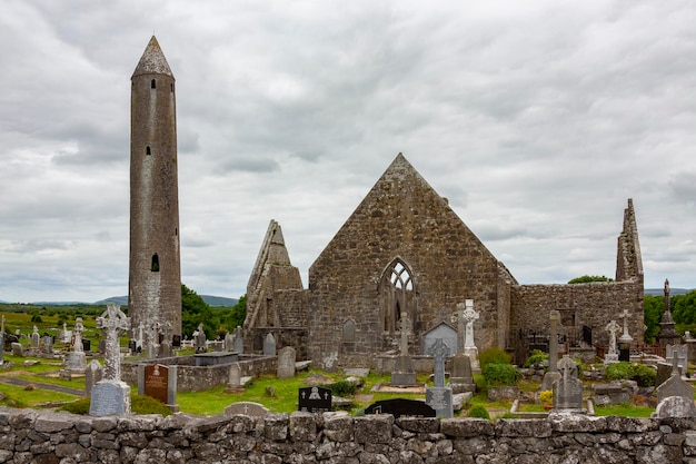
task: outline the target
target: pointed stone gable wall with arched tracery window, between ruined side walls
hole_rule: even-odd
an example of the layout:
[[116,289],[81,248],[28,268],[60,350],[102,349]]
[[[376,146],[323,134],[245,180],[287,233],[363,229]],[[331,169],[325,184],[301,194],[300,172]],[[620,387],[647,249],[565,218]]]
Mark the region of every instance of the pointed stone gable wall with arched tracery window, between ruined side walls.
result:
[[508,317],[500,278],[498,260],[399,154],[309,269],[310,355],[346,355],[336,342],[348,320],[357,353],[391,349],[400,312],[418,352],[443,310],[467,298],[481,313],[481,346],[494,346],[498,317]]

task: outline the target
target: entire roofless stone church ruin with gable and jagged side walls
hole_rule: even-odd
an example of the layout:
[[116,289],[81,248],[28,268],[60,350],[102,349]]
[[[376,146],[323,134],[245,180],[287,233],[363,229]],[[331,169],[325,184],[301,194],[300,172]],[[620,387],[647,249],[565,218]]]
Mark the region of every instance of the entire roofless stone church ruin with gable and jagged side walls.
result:
[[601,328],[624,312],[633,339],[643,340],[643,279],[632,199],[615,282],[519,285],[399,154],[310,266],[307,289],[271,220],[247,287],[247,349],[258,352],[272,333],[279,347],[291,345],[319,367],[372,367],[380,354],[398,352],[401,314],[412,322],[409,352],[424,355],[424,337],[449,328],[467,299],[480,315],[479,349],[524,357],[538,335],[548,343],[550,310],[559,312],[568,346],[591,348],[593,334],[606,337]]

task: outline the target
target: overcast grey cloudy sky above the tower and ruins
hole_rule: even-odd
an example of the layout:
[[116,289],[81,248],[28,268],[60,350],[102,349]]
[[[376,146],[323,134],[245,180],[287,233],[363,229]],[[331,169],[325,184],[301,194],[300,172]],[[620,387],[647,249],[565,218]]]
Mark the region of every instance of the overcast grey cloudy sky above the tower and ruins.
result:
[[0,14],[0,300],[128,293],[130,77],[177,78],[181,278],[307,269],[398,152],[523,284],[696,287],[696,2],[42,1]]

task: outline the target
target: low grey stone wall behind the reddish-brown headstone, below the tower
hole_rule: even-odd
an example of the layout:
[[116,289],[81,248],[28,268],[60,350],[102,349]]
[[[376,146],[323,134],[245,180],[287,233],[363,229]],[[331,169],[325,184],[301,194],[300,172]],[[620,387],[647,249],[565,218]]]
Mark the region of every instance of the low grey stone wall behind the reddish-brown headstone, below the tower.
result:
[[[277,356],[240,355],[238,363],[242,376],[276,374],[278,368]],[[229,364],[196,366],[193,356],[163,357],[137,363],[121,363],[121,379],[131,386],[137,386],[139,364],[176,365],[177,392],[202,392],[229,383]]]

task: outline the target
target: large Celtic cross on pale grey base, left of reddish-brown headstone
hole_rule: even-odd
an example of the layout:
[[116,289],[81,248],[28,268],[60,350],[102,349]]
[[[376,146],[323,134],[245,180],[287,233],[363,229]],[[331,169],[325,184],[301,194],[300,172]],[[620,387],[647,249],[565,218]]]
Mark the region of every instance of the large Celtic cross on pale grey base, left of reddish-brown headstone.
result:
[[119,336],[130,327],[130,319],[119,305],[107,305],[107,310],[97,317],[107,339],[103,359],[103,378],[92,387],[89,404],[91,416],[130,414],[130,386],[121,381]]

